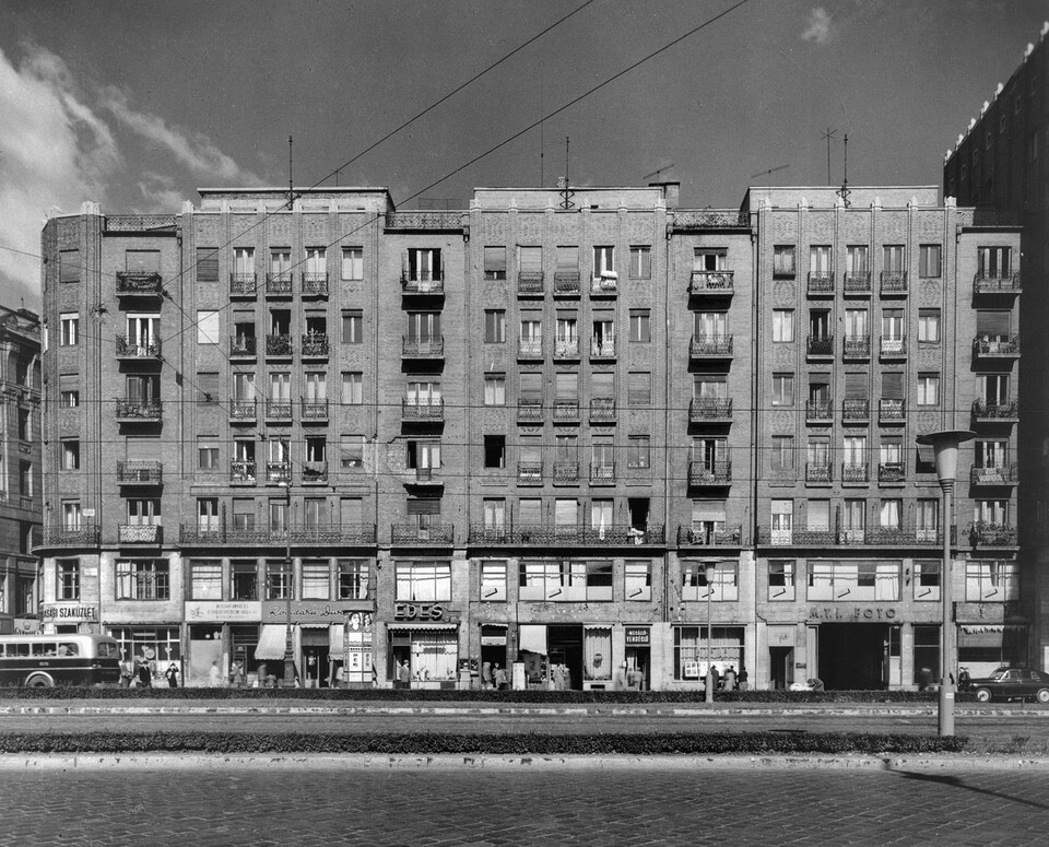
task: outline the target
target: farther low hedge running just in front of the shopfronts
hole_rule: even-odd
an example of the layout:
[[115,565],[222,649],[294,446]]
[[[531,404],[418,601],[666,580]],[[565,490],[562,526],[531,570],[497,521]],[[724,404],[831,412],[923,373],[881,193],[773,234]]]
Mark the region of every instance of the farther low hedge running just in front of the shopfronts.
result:
[[[703,703],[702,691],[458,691],[393,689],[55,689],[0,687],[0,699],[293,699],[328,703],[421,702],[486,704],[660,704]],[[969,692],[959,702],[975,702]],[[935,703],[935,692],[917,691],[730,691],[719,692],[716,702],[726,703]]]

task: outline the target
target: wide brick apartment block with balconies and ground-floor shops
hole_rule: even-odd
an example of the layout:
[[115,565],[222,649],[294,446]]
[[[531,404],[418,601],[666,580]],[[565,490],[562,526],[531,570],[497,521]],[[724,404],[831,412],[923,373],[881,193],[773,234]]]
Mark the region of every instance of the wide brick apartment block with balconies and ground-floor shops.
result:
[[[190,682],[238,659],[279,677],[291,637],[321,684],[514,664],[576,689],[624,663],[697,687],[709,660],[905,687],[939,638],[914,436],[1011,366],[958,274],[1015,233],[932,189],[752,189],[731,211],[677,209],[675,184],[478,189],[461,211],[203,189],[44,242],[48,326],[91,322],[45,357],[56,625]],[[62,404],[80,390],[97,402]],[[998,579],[992,417],[963,532]]]

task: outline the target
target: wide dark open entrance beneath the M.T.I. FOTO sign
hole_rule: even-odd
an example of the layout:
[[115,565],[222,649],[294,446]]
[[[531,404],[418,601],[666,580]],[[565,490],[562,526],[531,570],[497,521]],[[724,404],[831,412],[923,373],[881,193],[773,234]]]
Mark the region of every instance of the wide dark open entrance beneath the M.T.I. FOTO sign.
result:
[[887,624],[825,623],[820,625],[820,679],[837,691],[888,687]]

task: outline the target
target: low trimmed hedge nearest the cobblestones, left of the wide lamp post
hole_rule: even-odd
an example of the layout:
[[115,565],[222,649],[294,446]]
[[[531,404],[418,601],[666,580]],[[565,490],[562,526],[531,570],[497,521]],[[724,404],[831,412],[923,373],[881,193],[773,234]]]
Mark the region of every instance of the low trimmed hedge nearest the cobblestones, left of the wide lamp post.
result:
[[862,732],[677,732],[588,736],[72,732],[0,733],[0,753],[370,753],[381,755],[727,755],[960,753],[968,739]]

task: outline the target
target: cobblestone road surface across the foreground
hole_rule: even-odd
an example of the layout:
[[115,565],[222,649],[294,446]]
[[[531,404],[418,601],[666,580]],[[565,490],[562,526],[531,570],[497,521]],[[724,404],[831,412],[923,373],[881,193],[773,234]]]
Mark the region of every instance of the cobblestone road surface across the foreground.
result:
[[1027,845],[1049,774],[1024,770],[0,773],[0,844]]

